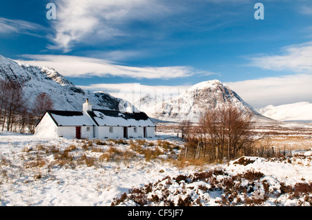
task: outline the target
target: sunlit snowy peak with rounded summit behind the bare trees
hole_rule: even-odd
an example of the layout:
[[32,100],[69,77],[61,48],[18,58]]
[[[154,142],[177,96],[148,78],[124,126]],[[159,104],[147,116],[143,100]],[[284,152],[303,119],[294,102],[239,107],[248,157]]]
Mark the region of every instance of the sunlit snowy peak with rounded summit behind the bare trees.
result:
[[[150,97],[148,98],[150,99]],[[142,102],[144,103],[144,100]],[[251,113],[257,120],[268,120],[218,80],[200,82],[191,86],[187,91],[174,98],[158,102],[154,107],[148,108],[146,113],[157,120],[198,122],[201,114],[205,113],[207,109],[214,109],[226,104],[238,107],[243,113]]]

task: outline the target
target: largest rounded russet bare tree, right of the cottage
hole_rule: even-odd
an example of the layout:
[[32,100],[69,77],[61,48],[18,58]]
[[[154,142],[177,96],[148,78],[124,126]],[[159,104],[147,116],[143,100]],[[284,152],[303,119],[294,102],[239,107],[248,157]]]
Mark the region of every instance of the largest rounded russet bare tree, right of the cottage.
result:
[[220,161],[227,154],[229,161],[239,153],[244,154],[245,147],[252,143],[250,119],[249,114],[231,105],[207,109],[196,127],[204,156],[208,151],[211,161]]

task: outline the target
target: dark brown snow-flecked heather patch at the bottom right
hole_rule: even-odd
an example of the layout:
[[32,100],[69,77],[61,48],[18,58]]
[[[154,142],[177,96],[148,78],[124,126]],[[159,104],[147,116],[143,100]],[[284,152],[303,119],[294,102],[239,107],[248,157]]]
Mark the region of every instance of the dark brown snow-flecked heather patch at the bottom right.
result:
[[[114,198],[111,205],[125,205],[128,201],[133,201],[137,205],[202,205],[211,199],[209,194],[214,192],[222,194],[221,199],[215,201],[216,205],[263,205],[268,200],[275,201],[276,205],[279,205],[279,196],[285,195],[288,199],[304,198],[305,202],[312,205],[310,196],[312,183],[296,183],[291,186],[281,182],[277,189],[271,188],[265,179],[261,179],[263,176],[263,173],[254,170],[230,175],[222,169],[196,172],[189,176],[178,175],[173,178],[166,176],[156,183],[130,189],[128,194],[124,193]],[[196,182],[207,184],[189,186]],[[176,196],[179,196],[179,199],[176,199]]]

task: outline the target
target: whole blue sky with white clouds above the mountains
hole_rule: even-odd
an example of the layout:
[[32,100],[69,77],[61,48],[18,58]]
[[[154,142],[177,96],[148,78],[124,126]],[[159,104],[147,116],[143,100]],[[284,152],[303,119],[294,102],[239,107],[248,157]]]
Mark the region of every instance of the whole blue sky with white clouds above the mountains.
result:
[[217,79],[258,108],[312,102],[311,21],[308,0],[1,1],[0,54],[116,96]]

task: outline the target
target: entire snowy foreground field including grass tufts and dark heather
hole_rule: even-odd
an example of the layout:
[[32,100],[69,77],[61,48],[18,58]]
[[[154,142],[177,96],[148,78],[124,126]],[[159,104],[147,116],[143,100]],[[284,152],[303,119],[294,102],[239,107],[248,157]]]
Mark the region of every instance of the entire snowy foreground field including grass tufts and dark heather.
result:
[[312,205],[311,149],[198,167],[173,163],[182,146],[166,134],[91,141],[1,132],[0,204]]

